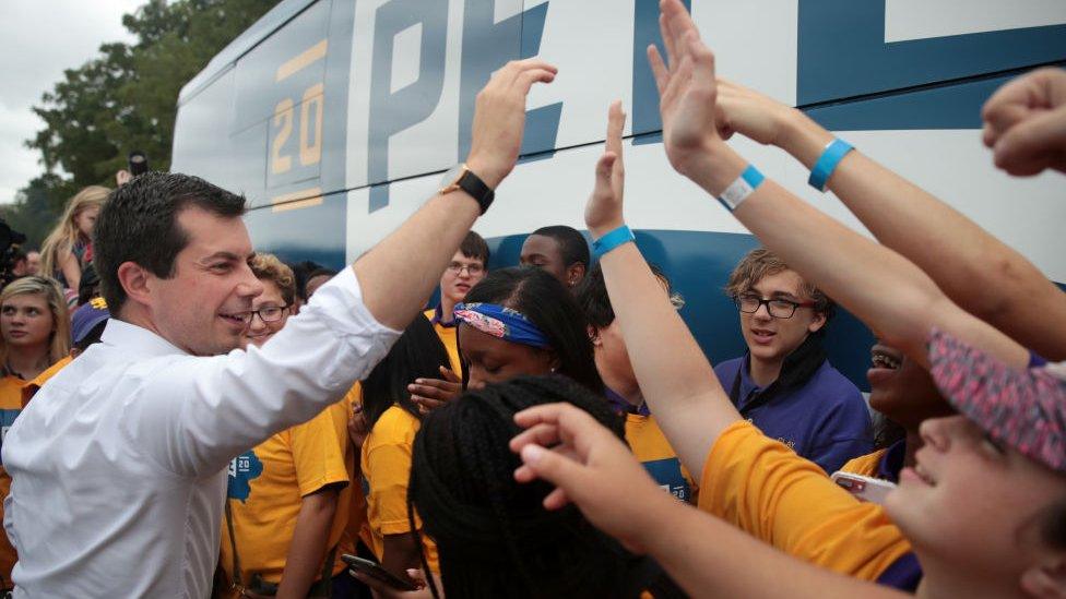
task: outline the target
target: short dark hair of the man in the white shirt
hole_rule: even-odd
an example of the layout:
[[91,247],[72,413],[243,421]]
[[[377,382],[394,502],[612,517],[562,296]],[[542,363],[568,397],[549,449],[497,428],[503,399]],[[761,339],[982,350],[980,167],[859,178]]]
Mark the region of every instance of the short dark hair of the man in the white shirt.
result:
[[93,265],[111,313],[126,303],[118,267],[133,262],[157,277],[174,276],[174,262],[189,243],[178,214],[196,206],[223,217],[245,214],[245,199],[198,177],[149,172],[108,196],[93,231]]

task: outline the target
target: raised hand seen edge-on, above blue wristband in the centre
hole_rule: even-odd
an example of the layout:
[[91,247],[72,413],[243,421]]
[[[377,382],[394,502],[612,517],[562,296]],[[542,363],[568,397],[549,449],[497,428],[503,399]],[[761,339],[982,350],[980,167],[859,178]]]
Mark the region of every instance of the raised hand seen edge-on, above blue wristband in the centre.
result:
[[621,101],[615,100],[607,110],[607,141],[603,156],[596,163],[596,184],[584,208],[584,223],[593,237],[620,227],[623,194],[626,188],[626,169],[621,159],[621,132],[626,127],[626,113]]

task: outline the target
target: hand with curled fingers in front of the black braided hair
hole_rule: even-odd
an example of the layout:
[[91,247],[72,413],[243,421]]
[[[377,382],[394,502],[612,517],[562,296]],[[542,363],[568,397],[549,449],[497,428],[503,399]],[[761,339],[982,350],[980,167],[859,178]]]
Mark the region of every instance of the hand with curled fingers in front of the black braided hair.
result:
[[[642,552],[649,515],[676,500],[664,493],[614,433],[588,412],[570,404],[547,404],[514,415],[526,429],[511,440],[522,457],[514,471],[519,482],[541,478],[557,488],[544,507],[558,510],[573,502],[589,522]],[[553,447],[547,450],[545,447]]]

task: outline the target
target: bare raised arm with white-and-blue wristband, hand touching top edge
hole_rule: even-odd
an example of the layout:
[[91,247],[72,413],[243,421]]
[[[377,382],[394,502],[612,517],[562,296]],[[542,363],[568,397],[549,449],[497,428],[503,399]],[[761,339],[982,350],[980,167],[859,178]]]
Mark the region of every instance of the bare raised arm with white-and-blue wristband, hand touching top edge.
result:
[[[678,0],[663,0],[662,9],[668,67],[654,46],[649,58],[661,95],[666,155],[678,172],[718,197],[748,164],[720,135],[725,123],[715,120],[714,56]],[[919,363],[928,363],[925,344],[934,325],[1006,363],[1028,363],[1023,347],[952,303],[914,264],[773,181],[756,184],[733,214],[806,280]]]

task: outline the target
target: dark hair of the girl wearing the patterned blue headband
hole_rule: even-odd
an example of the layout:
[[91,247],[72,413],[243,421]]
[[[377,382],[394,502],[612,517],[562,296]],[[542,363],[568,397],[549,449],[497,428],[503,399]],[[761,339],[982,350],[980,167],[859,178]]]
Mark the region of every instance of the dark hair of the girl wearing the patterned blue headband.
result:
[[570,291],[552,275],[531,266],[493,271],[466,293],[464,301],[518,310],[547,337],[559,358],[560,374],[593,393],[603,393],[588,321]]

